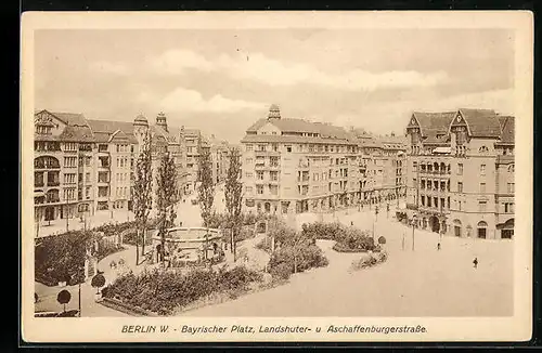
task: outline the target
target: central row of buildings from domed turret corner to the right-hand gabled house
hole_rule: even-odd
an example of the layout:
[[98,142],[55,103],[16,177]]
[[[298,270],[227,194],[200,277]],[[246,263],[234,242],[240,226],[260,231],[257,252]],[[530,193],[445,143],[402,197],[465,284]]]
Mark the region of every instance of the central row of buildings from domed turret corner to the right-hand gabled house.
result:
[[247,212],[319,212],[405,195],[400,138],[282,118],[272,105],[241,142]]

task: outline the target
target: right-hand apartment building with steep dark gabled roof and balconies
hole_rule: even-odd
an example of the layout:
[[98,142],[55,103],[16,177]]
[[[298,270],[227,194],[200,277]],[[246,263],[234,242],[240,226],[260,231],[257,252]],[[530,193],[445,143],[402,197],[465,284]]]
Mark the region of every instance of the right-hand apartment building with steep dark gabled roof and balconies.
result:
[[412,114],[408,209],[457,237],[514,235],[514,117],[491,109]]

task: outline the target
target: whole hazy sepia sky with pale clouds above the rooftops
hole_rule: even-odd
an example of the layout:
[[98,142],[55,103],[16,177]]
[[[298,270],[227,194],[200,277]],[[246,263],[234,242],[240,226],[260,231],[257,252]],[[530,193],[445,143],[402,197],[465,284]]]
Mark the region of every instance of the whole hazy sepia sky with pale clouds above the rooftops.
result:
[[154,120],[238,141],[283,117],[402,133],[412,110],[514,114],[498,29],[38,30],[36,108]]

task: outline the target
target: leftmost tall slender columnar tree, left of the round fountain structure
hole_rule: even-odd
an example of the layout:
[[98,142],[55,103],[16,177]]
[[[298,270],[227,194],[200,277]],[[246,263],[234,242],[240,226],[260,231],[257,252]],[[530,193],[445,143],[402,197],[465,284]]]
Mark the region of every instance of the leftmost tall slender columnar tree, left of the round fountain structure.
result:
[[[143,143],[140,146],[138,161],[136,164],[136,180],[133,183],[133,211],[138,224],[138,235],[136,237],[136,264],[139,264],[139,240],[146,232],[149,213],[152,208],[152,155],[151,134],[146,132]],[[142,241],[142,253],[145,252],[145,241]]]

